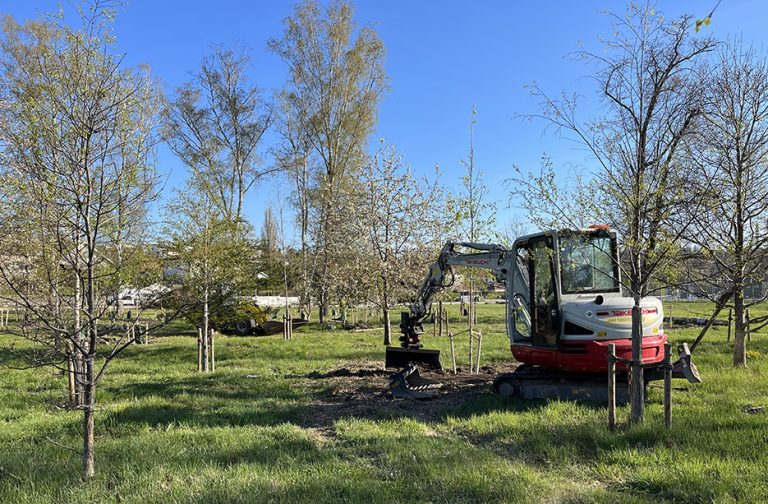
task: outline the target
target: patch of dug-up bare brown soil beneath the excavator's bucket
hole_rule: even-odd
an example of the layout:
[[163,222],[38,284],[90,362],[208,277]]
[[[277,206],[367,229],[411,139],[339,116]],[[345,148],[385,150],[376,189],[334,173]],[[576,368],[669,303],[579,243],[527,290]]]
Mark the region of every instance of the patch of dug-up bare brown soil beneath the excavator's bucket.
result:
[[439,420],[446,410],[490,391],[497,375],[514,368],[514,364],[489,365],[481,367],[478,374],[462,368],[456,374],[421,369],[422,377],[442,384],[434,397],[426,400],[393,398],[388,388],[393,372],[384,370],[380,362],[348,363],[325,373],[296,376],[308,379],[308,385],[322,390],[306,409],[302,423],[305,427],[324,428],[342,418]]

